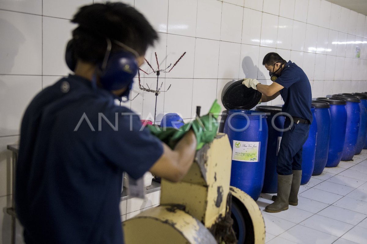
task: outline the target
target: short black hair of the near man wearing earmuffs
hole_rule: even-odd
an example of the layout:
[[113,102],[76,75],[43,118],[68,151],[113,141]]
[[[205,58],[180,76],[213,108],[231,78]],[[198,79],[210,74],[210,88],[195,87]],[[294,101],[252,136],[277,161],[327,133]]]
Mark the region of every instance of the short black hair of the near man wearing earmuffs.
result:
[[[97,63],[103,60],[106,38],[123,42],[144,55],[146,49],[158,40],[157,32],[135,8],[124,3],[86,5],[74,15],[73,50],[76,59]],[[112,51],[121,49],[113,44]]]

